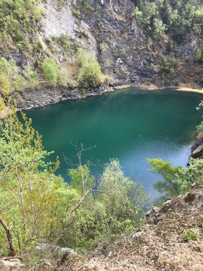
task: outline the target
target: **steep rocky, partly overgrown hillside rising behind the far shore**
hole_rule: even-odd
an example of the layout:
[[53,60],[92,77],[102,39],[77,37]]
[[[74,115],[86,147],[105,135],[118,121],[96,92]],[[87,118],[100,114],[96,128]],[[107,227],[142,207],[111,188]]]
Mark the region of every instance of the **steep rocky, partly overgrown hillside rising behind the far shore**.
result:
[[[142,11],[138,11],[134,3]],[[94,95],[124,84],[166,87],[183,83],[201,87],[201,9],[198,11],[197,1],[188,6],[183,3],[180,11],[175,4],[170,4],[167,12],[172,14],[171,22],[167,22],[168,17],[162,15],[166,14],[163,12],[167,3],[153,2],[152,6],[147,6],[147,3],[130,0],[48,0],[38,2],[41,15],[35,14],[35,6],[31,11],[25,7],[32,17],[28,14],[24,20],[16,18],[20,21],[19,28],[22,28],[20,33],[15,27],[8,28],[8,22],[3,21],[1,30],[7,36],[1,42],[0,57],[5,58],[12,67],[16,62],[15,72],[7,76],[10,76],[10,91],[17,98],[19,109]],[[154,7],[155,13],[148,14]],[[195,8],[200,15],[194,13]],[[147,10],[148,13],[145,12]],[[174,26],[173,22],[175,19],[172,16],[176,11],[180,14],[184,11],[178,16],[186,18],[184,22],[179,22],[179,26]],[[187,12],[190,14],[188,17]],[[161,18],[166,20],[166,24]],[[26,20],[29,23],[25,27]],[[102,72],[99,82],[79,82],[81,66],[76,61],[76,55],[81,47],[97,57]],[[195,61],[197,52],[200,58]],[[42,64],[46,57],[53,58],[59,69],[63,70],[62,76],[65,76],[63,82],[57,81],[55,88],[54,85],[50,87],[50,83],[44,79]],[[31,71],[35,70],[35,77],[38,76],[39,80],[34,83],[29,80],[25,66],[30,67]]]

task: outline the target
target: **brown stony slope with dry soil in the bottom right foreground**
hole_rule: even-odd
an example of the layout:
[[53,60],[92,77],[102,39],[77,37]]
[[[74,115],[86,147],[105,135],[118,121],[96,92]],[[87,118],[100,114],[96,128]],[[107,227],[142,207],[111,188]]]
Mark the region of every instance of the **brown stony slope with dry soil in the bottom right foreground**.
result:
[[[186,194],[149,211],[148,226],[142,231],[117,241],[113,248],[99,245],[85,259],[67,253],[57,270],[202,270],[202,212],[203,184],[193,184]],[[181,239],[190,229],[199,232],[197,240]]]

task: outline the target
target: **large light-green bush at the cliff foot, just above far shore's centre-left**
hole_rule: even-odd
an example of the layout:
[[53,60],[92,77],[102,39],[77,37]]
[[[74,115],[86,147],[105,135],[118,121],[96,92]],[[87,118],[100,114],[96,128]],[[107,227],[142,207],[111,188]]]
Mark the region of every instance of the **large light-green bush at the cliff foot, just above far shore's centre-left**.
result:
[[93,53],[82,48],[77,51],[77,63],[80,67],[77,82],[80,86],[95,87],[102,82],[101,68]]

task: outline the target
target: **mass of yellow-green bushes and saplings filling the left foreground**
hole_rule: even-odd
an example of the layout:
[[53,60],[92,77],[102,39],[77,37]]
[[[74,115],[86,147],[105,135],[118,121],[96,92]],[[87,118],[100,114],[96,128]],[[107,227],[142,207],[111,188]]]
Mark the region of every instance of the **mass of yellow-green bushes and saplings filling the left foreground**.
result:
[[7,105],[0,101],[1,254],[29,260],[34,254],[37,263],[44,254],[36,244],[86,249],[142,225],[147,196],[138,182],[125,177],[118,160],[110,160],[101,176],[91,173],[89,162],[79,163],[68,171],[67,184],[54,174],[59,161],[48,162],[53,152],[44,150],[31,119],[22,113],[20,122],[11,98],[5,99]]

